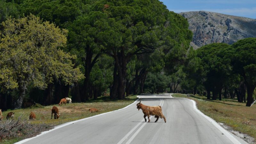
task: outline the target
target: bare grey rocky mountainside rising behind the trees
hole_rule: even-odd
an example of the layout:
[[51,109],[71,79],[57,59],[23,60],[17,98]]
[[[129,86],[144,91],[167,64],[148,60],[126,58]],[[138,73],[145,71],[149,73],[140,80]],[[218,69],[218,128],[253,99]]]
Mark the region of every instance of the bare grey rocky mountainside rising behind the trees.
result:
[[256,19],[215,12],[181,12],[194,33],[190,43],[195,49],[211,43],[233,44],[246,37],[256,37]]

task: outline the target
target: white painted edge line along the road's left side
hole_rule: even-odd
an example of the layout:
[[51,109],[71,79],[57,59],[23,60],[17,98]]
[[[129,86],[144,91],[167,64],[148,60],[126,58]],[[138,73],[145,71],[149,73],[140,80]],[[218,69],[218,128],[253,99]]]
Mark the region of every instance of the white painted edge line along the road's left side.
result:
[[[138,97],[138,96],[137,96],[137,97]],[[136,103],[136,101],[138,101],[138,100],[139,100],[139,99],[135,100],[133,103],[131,103],[130,105],[128,105],[128,106],[126,106],[126,107],[124,107],[124,108],[130,107],[131,105],[133,105],[134,103]],[[115,111],[118,111],[118,110],[122,110],[122,109],[124,109],[124,108],[120,108],[120,109],[117,109],[117,110],[114,110],[114,111],[110,111],[110,112],[102,113],[102,114],[99,114],[99,115],[95,115],[95,116],[91,116],[91,117],[86,117],[86,118],[83,118],[83,119],[79,119],[79,120],[75,120],[75,121],[72,121],[72,122],[68,122],[68,123],[66,123],[66,124],[62,124],[62,125],[60,125],[60,126],[56,126],[55,128],[53,128],[53,129],[51,129],[51,130],[49,130],[49,131],[41,132],[40,134],[36,135],[35,137],[28,138],[28,139],[25,139],[25,140],[21,140],[21,141],[18,141],[18,142],[16,142],[16,143],[14,143],[14,144],[22,144],[22,143],[24,143],[24,142],[27,142],[28,140],[35,139],[35,138],[37,138],[37,137],[39,137],[39,136],[41,136],[41,135],[44,135],[44,134],[46,134],[46,133],[48,133],[48,132],[52,132],[52,131],[54,131],[54,130],[57,130],[57,129],[59,129],[59,128],[62,128],[62,127],[64,127],[64,126],[67,126],[67,125],[69,125],[69,124],[73,124],[73,123],[76,123],[76,122],[80,122],[80,121],[83,121],[83,120],[87,120],[87,119],[90,119],[90,118],[93,118],[93,117],[96,117],[96,116],[101,116],[101,115],[105,115],[105,114],[108,114],[108,113],[112,113],[112,112],[115,112]]]

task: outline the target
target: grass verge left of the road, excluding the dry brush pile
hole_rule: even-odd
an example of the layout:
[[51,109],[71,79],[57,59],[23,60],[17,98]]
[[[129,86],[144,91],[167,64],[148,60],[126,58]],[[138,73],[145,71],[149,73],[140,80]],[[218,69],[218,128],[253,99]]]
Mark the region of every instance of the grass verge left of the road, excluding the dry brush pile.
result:
[[[120,108],[124,108],[127,105],[133,103],[137,100],[137,95],[132,95],[126,97],[124,100],[111,100],[109,96],[99,97],[97,100],[88,100],[84,103],[71,103],[59,106],[58,104],[43,106],[42,108],[25,108],[25,109],[15,109],[15,110],[7,110],[3,112],[4,119],[0,121],[0,125],[6,122],[6,115],[8,112],[15,112],[14,120],[17,120],[19,116],[23,121],[29,121],[31,124],[47,124],[51,127],[56,125],[64,124],[70,121],[75,121],[78,119],[98,115],[101,113],[106,113],[109,111],[117,110]],[[52,107],[56,106],[59,108],[60,118],[54,119],[54,115],[52,116]],[[97,108],[99,112],[90,113],[90,108]],[[36,114],[36,120],[28,120],[30,112],[33,111]],[[52,119],[51,119],[52,116]],[[41,132],[36,133],[35,135]],[[10,144],[20,141],[22,139],[28,138],[26,135],[22,135],[16,138],[5,138],[1,140],[0,143]]]

